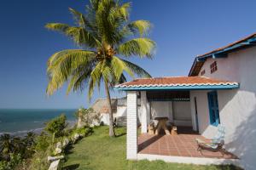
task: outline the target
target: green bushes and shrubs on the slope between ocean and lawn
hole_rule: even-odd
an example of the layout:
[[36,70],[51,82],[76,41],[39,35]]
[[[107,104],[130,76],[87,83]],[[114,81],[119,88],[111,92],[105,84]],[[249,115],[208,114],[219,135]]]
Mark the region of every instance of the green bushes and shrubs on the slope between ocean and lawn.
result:
[[48,169],[49,156],[64,156],[69,145],[93,132],[89,126],[67,125],[66,116],[61,114],[46,122],[44,130],[38,135],[32,132],[25,137],[11,136],[9,133],[1,135],[0,170]]

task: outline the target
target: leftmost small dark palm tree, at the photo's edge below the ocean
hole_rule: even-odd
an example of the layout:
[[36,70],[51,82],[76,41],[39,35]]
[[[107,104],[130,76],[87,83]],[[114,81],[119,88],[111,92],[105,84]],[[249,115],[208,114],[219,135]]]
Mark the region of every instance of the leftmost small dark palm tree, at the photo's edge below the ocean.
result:
[[9,156],[12,150],[14,149],[14,146],[11,142],[11,137],[9,133],[4,133],[0,137],[0,151],[3,159],[5,161],[9,161]]

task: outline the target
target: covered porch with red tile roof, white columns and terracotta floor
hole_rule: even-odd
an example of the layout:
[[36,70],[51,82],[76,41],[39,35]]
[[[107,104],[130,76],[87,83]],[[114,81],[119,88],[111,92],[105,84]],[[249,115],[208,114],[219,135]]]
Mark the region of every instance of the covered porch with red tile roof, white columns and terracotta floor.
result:
[[[216,90],[238,88],[238,83],[206,77],[164,77],[137,79],[120,84],[116,88],[127,92],[127,159],[204,165],[238,164],[239,160],[230,153],[222,156],[219,152],[203,150],[201,155],[201,152],[197,151],[195,142],[195,139],[204,139],[196,132],[203,133],[206,127],[211,128],[209,131],[211,136],[217,132],[214,131],[216,126],[212,126],[212,122],[207,125],[209,123],[207,92],[214,90],[217,94]],[[213,97],[211,104],[216,106],[218,99],[216,95]],[[138,98],[141,101],[140,115],[137,109]],[[198,102],[196,99],[199,99]],[[212,108],[214,122],[219,123],[218,107]],[[155,133],[149,135],[149,124],[150,126],[153,124],[153,129],[160,124],[162,126],[163,123],[159,123],[159,118],[167,120],[168,128],[163,126],[166,130],[177,129],[177,135]],[[140,135],[137,133],[139,124]],[[167,131],[166,133],[168,134]]]

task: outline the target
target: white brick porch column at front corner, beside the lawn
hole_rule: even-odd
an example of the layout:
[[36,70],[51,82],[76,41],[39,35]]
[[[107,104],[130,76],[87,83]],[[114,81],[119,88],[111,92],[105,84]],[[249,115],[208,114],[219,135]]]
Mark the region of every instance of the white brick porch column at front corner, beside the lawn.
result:
[[127,92],[126,157],[137,159],[137,92]]

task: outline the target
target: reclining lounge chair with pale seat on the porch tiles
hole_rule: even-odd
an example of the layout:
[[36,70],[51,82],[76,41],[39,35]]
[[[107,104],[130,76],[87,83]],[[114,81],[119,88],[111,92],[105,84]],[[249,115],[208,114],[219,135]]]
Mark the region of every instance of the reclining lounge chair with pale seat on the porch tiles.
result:
[[[217,134],[211,139],[211,142],[205,142],[201,139],[195,139],[198,148],[197,150],[201,152],[201,150],[210,150],[213,152],[220,151],[222,156],[224,156],[224,135],[225,135],[225,127],[223,125],[218,125]],[[201,153],[202,155],[202,153]]]

